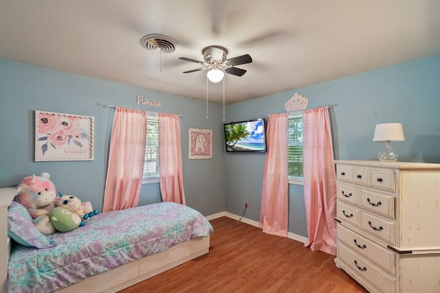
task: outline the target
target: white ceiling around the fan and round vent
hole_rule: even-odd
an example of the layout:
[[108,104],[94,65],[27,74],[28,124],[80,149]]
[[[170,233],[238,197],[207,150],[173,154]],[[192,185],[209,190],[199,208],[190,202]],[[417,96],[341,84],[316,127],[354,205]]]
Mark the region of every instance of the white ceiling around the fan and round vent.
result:
[[[142,47],[177,40],[172,54]],[[228,58],[226,104],[440,54],[439,0],[0,0],[0,58],[206,99],[210,45]],[[223,83],[208,84],[221,104]]]

